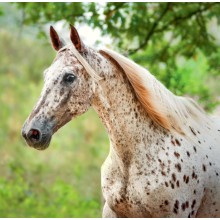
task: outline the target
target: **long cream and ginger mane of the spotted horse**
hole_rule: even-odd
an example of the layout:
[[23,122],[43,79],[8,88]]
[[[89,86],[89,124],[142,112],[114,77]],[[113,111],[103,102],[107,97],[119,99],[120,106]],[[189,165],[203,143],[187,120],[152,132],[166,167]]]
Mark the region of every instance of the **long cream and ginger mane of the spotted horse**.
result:
[[[174,95],[147,69],[119,53],[102,49],[124,70],[136,96],[149,117],[163,128],[185,135],[199,132],[201,122],[208,126],[211,119],[191,98]],[[207,127],[206,127],[207,128]]]

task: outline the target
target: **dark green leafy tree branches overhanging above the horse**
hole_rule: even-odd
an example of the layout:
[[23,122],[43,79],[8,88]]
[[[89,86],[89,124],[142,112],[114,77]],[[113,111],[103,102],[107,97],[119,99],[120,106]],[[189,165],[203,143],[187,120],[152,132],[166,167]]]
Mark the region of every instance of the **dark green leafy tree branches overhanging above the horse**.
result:
[[[177,55],[192,57],[196,49],[204,54],[216,52],[214,37],[207,31],[209,22],[218,22],[220,3],[17,3],[25,13],[24,23],[46,24],[65,20],[67,23],[88,23],[99,27],[103,34],[114,39],[117,47],[130,55],[146,50],[150,44],[155,48],[153,56],[166,50],[164,59]],[[167,38],[167,34],[171,34]],[[178,42],[178,43],[177,43]],[[216,65],[216,63],[215,63]]]

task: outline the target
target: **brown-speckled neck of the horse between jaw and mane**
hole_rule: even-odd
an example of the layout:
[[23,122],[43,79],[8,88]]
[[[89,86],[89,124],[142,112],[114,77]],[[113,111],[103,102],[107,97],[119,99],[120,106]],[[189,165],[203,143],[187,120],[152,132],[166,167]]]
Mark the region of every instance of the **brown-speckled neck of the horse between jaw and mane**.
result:
[[90,65],[103,80],[98,82],[92,105],[108,131],[111,152],[126,162],[128,155],[140,152],[135,148],[147,135],[153,136],[155,129],[123,70],[109,58],[94,57],[96,61]]

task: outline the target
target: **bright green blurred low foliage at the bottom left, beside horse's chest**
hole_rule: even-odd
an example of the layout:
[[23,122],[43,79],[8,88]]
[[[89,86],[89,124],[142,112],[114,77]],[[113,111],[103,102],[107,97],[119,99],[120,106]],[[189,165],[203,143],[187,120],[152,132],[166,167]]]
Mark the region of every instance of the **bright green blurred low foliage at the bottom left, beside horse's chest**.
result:
[[61,180],[53,184],[36,185],[27,181],[19,164],[9,165],[11,178],[0,179],[1,217],[65,218],[100,215],[99,201],[84,198],[73,185]]

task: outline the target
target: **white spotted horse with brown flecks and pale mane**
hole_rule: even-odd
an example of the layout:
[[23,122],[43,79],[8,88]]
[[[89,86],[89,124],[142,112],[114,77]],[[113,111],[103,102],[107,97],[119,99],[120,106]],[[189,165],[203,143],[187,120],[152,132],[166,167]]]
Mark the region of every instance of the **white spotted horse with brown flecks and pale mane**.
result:
[[101,167],[103,217],[220,217],[220,118],[176,96],[147,69],[110,49],[93,49],[70,28],[22,136],[38,150],[93,107],[110,141]]

